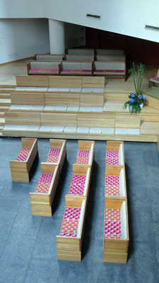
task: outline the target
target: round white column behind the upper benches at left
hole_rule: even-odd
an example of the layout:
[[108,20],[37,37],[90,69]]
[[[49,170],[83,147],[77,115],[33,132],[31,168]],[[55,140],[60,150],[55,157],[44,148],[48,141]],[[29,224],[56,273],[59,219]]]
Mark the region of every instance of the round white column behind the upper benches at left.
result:
[[49,19],[50,54],[65,54],[64,22]]

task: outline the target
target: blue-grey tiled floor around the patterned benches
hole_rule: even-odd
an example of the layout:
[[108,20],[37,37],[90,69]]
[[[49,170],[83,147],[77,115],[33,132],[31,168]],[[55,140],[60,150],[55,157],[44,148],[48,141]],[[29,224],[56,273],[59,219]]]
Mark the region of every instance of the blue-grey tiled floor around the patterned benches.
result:
[[58,261],[56,248],[77,140],[66,143],[67,162],[52,217],[33,217],[29,198],[40,176],[40,162],[47,158],[49,140],[38,140],[40,159],[30,183],[11,182],[8,162],[16,158],[20,147],[20,138],[0,138],[1,283],[159,282],[159,157],[155,143],[124,143],[130,237],[126,265],[102,263],[106,142],[95,141],[81,263]]

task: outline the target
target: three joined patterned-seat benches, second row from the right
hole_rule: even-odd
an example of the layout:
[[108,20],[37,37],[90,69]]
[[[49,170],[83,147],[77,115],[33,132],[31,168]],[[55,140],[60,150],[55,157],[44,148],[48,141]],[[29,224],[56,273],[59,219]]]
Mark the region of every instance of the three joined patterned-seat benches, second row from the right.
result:
[[88,203],[90,176],[94,159],[93,140],[78,140],[76,163],[73,164],[73,175],[69,194],[66,195],[66,208],[57,236],[58,260],[81,261],[83,229]]

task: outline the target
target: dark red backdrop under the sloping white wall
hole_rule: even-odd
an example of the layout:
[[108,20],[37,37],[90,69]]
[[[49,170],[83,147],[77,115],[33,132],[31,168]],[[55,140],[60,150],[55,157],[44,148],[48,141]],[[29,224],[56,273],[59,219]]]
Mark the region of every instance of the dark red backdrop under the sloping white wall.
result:
[[86,28],[86,45],[95,49],[124,49],[127,59],[159,68],[159,43],[156,42],[106,32],[105,30]]

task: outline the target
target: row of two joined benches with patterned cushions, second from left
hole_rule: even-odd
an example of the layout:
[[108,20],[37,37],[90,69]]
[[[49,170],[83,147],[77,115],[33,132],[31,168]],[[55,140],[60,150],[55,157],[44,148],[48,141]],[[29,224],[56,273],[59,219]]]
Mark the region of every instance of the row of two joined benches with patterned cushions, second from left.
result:
[[52,216],[52,203],[61,169],[66,158],[66,140],[49,140],[50,150],[46,162],[41,163],[40,179],[35,193],[30,193],[32,215]]

